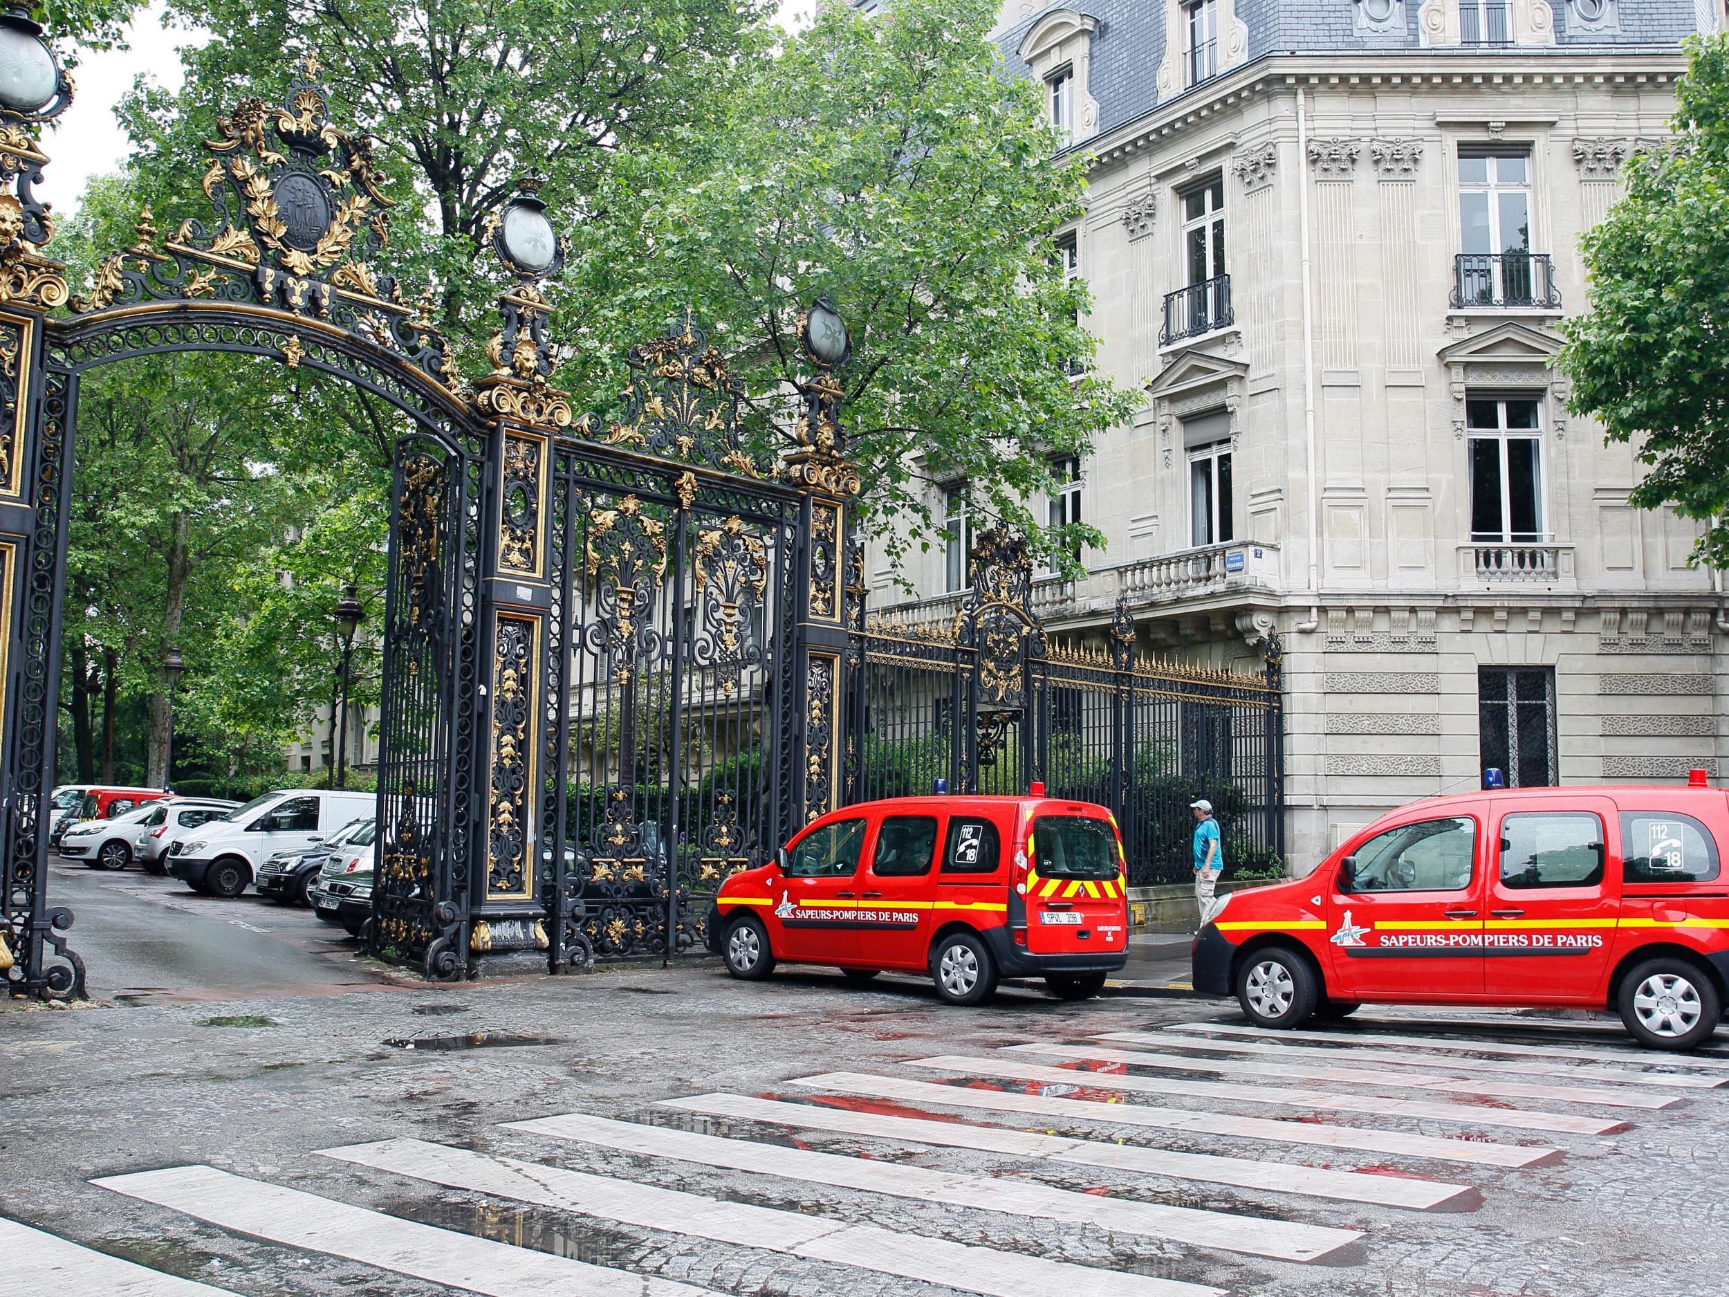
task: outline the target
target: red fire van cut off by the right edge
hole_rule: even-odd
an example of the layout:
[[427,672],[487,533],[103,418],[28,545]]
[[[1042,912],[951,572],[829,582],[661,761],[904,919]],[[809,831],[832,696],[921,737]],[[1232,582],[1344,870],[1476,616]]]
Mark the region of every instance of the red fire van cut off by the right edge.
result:
[[1501,789],[1404,806],[1307,879],[1235,892],[1195,937],[1195,989],[1264,1027],[1362,1001],[1613,1008],[1691,1050],[1729,982],[1729,794]]

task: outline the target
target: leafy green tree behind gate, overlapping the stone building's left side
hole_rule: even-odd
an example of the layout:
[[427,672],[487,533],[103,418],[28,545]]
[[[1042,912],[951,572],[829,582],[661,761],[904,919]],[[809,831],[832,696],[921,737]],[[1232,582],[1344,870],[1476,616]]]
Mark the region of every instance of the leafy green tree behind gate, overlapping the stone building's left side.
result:
[[[787,384],[807,374],[797,320],[826,294],[852,332],[849,453],[878,534],[903,517],[928,536],[930,482],[960,479],[1039,536],[1027,500],[1051,457],[1084,453],[1138,398],[1086,370],[1086,285],[1051,242],[1081,214],[1084,164],[1056,156],[1037,92],[1006,74],[996,10],[830,5],[733,81],[718,125],[621,156],[560,287],[572,386],[612,398],[626,348],[688,303],[735,358],[754,434],[785,444]],[[1100,540],[1067,527],[1037,546]]]

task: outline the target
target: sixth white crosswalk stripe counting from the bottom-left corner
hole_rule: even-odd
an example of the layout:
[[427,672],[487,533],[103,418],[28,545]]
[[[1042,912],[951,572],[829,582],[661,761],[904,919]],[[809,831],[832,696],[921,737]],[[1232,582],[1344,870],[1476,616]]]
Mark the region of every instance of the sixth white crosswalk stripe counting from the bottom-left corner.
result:
[[[1065,1076],[1074,1077],[1075,1074],[1065,1072]],[[1148,1103],[1105,1103],[1091,1098],[1024,1095],[1013,1089],[973,1089],[972,1086],[904,1081],[901,1077],[868,1076],[863,1072],[823,1072],[821,1076],[804,1076],[787,1084],[828,1089],[840,1095],[903,1098],[913,1103],[937,1103],[956,1109],[1020,1112],[1032,1117],[1067,1117],[1070,1121],[1188,1131],[1191,1134],[1212,1134],[1233,1140],[1349,1148],[1361,1153],[1423,1157],[1439,1162],[1527,1167],[1553,1162],[1560,1155],[1558,1148],[1490,1143],[1487,1140],[1442,1140],[1433,1134],[1376,1131],[1361,1126],[1328,1126],[1324,1122],[1281,1121],[1273,1117],[1235,1117],[1228,1112],[1193,1112],[1190,1109],[1162,1109]],[[1063,1088],[1072,1089],[1075,1086],[1070,1081]]]

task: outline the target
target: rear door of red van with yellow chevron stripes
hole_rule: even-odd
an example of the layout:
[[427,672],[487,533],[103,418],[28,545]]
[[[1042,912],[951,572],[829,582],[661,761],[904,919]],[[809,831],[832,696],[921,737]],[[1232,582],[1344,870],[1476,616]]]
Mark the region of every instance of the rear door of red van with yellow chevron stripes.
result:
[[1027,951],[1093,955],[1127,946],[1122,853],[1110,820],[1084,806],[1041,809],[1027,851]]

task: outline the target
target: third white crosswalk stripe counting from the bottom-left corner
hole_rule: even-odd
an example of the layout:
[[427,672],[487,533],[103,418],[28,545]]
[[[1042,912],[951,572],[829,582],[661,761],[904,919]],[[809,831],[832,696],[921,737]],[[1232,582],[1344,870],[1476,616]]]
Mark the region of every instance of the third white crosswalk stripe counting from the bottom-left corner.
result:
[[1222,1288],[1198,1283],[1126,1275],[1024,1252],[999,1252],[868,1224],[847,1224],[807,1212],[705,1198],[699,1193],[591,1176],[514,1157],[486,1157],[467,1148],[422,1140],[386,1140],[322,1152],[342,1162],[488,1193],[494,1198],[813,1261],[835,1261],[989,1297],[1048,1297],[1053,1292],[1074,1297],[1222,1297]]

